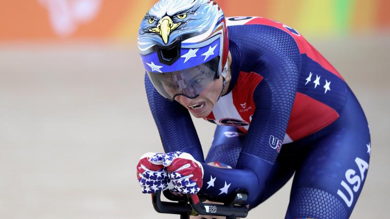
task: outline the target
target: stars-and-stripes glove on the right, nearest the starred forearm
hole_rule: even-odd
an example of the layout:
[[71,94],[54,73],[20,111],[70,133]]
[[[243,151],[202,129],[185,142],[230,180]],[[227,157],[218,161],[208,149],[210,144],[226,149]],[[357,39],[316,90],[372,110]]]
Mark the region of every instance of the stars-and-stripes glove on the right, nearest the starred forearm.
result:
[[178,151],[163,154],[163,165],[179,193],[195,195],[202,188],[203,166],[191,154]]

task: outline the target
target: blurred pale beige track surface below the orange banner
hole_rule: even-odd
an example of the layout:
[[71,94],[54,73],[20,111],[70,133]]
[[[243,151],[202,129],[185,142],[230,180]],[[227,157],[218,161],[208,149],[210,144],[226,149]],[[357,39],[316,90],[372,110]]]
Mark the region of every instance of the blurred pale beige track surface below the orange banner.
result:
[[[387,218],[389,35],[312,44],[344,76],[371,128],[368,177],[351,218]],[[134,46],[0,46],[0,218],[150,219],[135,167],[162,151]],[[195,120],[204,151],[214,125]],[[284,218],[291,181],[249,213]]]

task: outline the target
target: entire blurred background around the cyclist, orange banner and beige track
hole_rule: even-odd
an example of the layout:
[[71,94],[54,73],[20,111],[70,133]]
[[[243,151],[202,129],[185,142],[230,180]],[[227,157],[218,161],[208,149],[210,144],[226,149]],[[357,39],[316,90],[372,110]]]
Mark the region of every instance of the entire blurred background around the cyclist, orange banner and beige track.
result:
[[[138,25],[155,0],[0,0],[0,218],[159,215],[135,167],[162,151],[143,88]],[[217,0],[305,36],[343,75],[371,130],[368,177],[351,218],[387,218],[389,0]],[[194,120],[207,152],[215,126]],[[291,181],[250,212],[284,218]]]

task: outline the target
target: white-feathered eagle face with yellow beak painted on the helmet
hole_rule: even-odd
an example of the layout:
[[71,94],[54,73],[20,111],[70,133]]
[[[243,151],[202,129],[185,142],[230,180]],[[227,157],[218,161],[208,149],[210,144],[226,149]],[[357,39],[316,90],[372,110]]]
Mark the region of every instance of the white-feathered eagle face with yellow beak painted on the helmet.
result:
[[146,51],[154,45],[200,42],[212,35],[215,25],[225,18],[211,0],[160,0],[145,15],[138,32],[138,48]]

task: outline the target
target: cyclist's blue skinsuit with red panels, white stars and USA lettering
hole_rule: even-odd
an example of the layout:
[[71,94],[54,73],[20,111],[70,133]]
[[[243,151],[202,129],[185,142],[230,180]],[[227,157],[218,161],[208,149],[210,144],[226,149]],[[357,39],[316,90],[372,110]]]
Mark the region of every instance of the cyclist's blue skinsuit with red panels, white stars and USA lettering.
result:
[[[243,119],[248,124],[241,125],[221,124],[225,120],[216,115],[206,118],[218,124],[206,161],[188,110],[164,99],[145,75],[164,150],[187,152],[202,162],[201,191],[210,196],[226,197],[244,189],[249,192],[247,203],[254,208],[295,172],[286,218],[348,218],[370,160],[364,112],[341,76],[302,49],[294,38],[299,35],[295,30],[270,22],[256,18],[228,27],[233,59],[228,94],[240,96],[237,88],[257,76],[258,84],[250,96],[254,112],[250,121]],[[312,105],[305,107],[308,102]],[[311,113],[313,116],[307,117]],[[302,119],[305,116],[312,119]],[[286,144],[286,136],[291,143]],[[283,138],[281,149],[273,147],[274,139]],[[209,162],[234,169],[216,168],[206,164]]]

